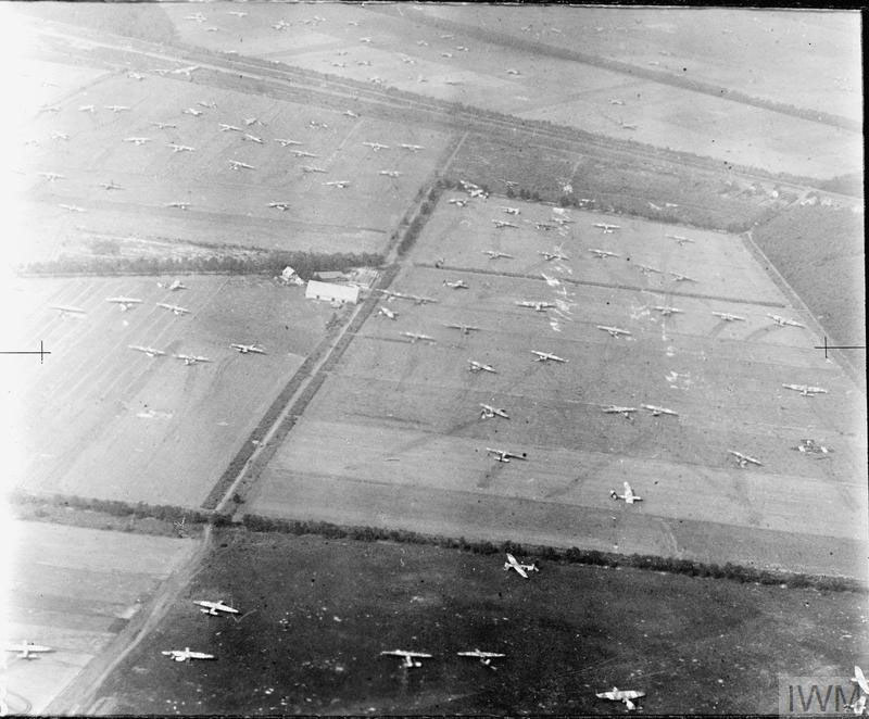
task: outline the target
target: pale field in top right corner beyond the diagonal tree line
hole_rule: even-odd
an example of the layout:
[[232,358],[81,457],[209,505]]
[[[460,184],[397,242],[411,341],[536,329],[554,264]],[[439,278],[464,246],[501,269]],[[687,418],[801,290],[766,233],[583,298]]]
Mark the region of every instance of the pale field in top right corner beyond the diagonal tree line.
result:
[[[855,12],[725,8],[431,5],[429,17],[717,85],[854,121],[859,103]],[[458,30],[461,34],[461,29]],[[456,35],[456,39],[461,35]],[[786,56],[788,61],[779,58]]]

